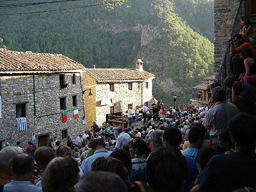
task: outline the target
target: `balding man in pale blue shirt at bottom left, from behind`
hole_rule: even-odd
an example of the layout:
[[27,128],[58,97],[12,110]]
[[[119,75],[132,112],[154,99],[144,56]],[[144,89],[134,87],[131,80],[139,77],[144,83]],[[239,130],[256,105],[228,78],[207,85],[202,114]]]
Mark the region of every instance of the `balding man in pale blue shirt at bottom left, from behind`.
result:
[[30,154],[21,153],[13,158],[13,180],[4,185],[4,192],[39,192],[41,187],[36,187],[33,180],[34,162]]

